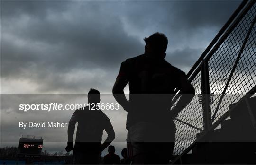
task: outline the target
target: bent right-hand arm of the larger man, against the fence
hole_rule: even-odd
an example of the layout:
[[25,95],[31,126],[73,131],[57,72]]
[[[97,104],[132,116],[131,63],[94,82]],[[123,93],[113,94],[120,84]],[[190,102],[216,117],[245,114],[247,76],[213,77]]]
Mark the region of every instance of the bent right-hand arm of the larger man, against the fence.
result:
[[178,84],[178,89],[180,90],[179,94],[181,94],[181,97],[176,106],[171,111],[174,118],[177,117],[178,113],[180,113],[181,110],[183,110],[183,108],[185,108],[195,96],[195,89],[190,84],[185,74],[179,78]]

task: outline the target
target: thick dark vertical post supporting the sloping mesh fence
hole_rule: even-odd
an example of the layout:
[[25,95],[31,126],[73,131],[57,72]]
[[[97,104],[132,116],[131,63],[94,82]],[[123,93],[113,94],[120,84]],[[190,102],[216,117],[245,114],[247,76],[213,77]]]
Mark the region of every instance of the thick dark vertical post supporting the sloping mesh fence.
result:
[[203,130],[207,131],[211,126],[208,61],[203,61],[201,65],[201,88],[202,88]]

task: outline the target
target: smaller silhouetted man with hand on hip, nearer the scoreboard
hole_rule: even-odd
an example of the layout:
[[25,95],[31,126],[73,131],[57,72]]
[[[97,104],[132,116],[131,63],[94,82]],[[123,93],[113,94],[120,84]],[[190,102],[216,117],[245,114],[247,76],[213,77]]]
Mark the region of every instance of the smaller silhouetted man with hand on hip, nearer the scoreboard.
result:
[[[91,105],[76,110],[68,124],[68,145],[66,151],[73,151],[74,164],[98,164],[101,152],[107,148],[115,138],[115,132],[110,119],[100,110],[93,106],[100,103],[100,92],[92,89],[88,92],[88,103]],[[94,107],[92,109],[92,107]],[[75,124],[76,130],[75,146],[73,148],[73,134]],[[108,134],[107,139],[101,144],[103,130]]]

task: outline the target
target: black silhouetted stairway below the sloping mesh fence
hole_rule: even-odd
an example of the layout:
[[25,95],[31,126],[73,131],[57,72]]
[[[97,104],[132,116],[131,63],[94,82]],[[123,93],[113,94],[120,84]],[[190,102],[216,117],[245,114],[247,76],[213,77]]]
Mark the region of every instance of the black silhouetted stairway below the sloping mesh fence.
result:
[[[192,154],[182,156],[182,164],[256,164],[256,97],[241,102],[221,128],[197,134]],[[229,108],[235,104],[230,104]],[[248,106],[249,105],[249,108]],[[250,109],[251,111],[249,111]],[[178,162],[176,162],[178,163]]]

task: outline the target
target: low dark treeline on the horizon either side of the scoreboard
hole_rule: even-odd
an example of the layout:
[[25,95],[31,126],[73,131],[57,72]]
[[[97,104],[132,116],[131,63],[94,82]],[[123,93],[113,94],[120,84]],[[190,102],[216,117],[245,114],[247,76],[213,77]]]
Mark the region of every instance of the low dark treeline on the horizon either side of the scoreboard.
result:
[[[18,155],[18,147],[4,147],[0,148],[0,157],[16,157]],[[41,155],[45,156],[72,156],[71,152],[55,152],[55,153],[49,153],[48,151],[44,150],[42,151]]]

